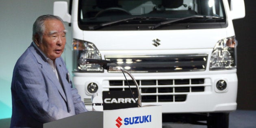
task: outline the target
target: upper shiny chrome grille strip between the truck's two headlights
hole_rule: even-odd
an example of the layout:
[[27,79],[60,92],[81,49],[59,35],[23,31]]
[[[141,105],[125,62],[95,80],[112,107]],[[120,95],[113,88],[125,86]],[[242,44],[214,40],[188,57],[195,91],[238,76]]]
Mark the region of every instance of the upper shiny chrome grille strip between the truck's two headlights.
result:
[[204,71],[207,57],[208,54],[106,55],[105,59],[116,62],[128,72],[140,73]]

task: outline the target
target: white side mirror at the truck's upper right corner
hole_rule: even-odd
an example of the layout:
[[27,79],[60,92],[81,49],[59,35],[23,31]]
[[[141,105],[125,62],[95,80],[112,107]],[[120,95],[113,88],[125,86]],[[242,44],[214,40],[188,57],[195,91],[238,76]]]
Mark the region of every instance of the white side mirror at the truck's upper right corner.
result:
[[245,17],[245,3],[243,0],[231,0],[230,13],[232,20]]

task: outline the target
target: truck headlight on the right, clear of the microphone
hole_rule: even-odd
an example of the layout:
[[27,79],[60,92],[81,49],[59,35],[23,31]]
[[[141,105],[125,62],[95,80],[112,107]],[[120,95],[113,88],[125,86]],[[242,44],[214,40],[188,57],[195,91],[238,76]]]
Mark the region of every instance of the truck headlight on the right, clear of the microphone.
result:
[[236,68],[236,46],[235,37],[219,40],[211,54],[210,70]]

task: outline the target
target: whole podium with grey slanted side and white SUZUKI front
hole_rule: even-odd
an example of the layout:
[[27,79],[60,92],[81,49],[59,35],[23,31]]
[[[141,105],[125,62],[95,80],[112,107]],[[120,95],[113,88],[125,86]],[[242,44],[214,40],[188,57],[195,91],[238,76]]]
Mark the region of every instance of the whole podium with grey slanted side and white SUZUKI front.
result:
[[88,111],[45,123],[43,128],[162,128],[162,107]]

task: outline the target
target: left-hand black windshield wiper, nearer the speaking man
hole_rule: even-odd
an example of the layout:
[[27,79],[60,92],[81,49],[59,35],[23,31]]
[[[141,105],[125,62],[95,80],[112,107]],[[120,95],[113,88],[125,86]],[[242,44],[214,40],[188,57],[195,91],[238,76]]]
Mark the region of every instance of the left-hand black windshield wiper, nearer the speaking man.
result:
[[130,17],[130,18],[122,19],[122,20],[116,20],[116,21],[102,23],[100,25],[93,26],[92,28],[90,28],[90,30],[97,30],[97,29],[103,28],[105,26],[110,26],[110,25],[117,24],[120,22],[127,22],[129,20],[152,20],[152,19],[167,20],[167,18],[163,18],[163,17]]

